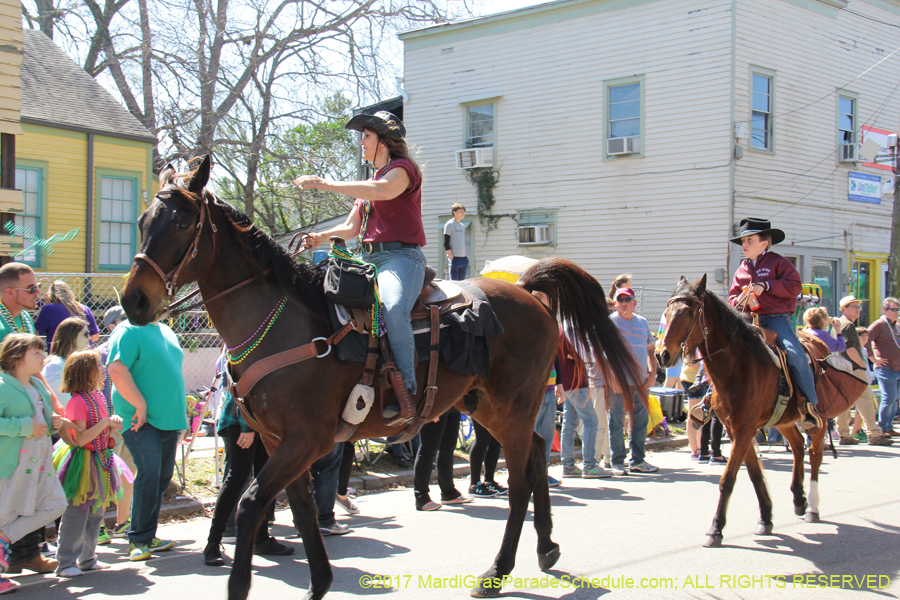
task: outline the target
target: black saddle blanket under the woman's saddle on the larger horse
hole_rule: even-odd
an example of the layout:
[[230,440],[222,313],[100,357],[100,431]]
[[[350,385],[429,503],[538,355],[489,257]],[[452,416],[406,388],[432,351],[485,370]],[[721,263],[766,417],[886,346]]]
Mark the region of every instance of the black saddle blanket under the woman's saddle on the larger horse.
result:
[[[440,358],[449,369],[477,377],[491,376],[491,338],[503,333],[503,325],[494,314],[487,296],[478,286],[468,281],[455,281],[472,298],[471,306],[440,316]],[[328,315],[333,330],[337,331],[350,321],[349,311],[329,302]],[[418,363],[428,364],[431,344],[431,324],[428,319],[412,322],[416,340]],[[391,332],[388,331],[388,338]],[[368,335],[351,331],[335,347],[339,360],[365,364],[368,351]],[[378,364],[384,364],[381,356]]]

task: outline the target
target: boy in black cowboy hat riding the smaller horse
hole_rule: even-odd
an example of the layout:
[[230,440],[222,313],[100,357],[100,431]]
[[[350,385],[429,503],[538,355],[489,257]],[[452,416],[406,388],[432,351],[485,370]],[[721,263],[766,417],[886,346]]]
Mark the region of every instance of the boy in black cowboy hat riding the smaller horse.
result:
[[791,323],[802,288],[800,274],[791,261],[771,251],[772,246],[783,242],[784,238],[784,232],[773,229],[765,219],[748,217],[741,221],[741,232],[731,238],[731,243],[741,246],[747,260],[734,274],[728,303],[740,311],[756,313],[761,327],[778,334],[775,343],[787,353],[791,377],[807,401],[808,414],[801,427],[813,429],[822,426],[816,411],[819,403],[816,383],[806,352]]

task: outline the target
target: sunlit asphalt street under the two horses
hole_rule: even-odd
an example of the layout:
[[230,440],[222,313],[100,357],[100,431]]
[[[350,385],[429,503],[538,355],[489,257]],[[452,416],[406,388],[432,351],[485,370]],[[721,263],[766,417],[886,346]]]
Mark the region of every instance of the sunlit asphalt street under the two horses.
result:
[[[726,446],[726,452],[727,452]],[[692,463],[687,449],[651,454],[659,474],[603,480],[566,479],[552,490],[554,539],[562,557],[543,573],[535,554],[531,515],[518,564],[503,597],[565,598],[896,598],[900,595],[900,447],[840,448],[826,457],[820,480],[822,522],[793,514],[790,456],[764,451],[775,503],[775,533],[756,536],[759,516],[742,470],[728,512],[722,548],[701,544],[715,509],[721,466]],[[560,475],[560,467],[551,467]],[[465,489],[468,481],[458,480]],[[437,486],[432,486],[436,491]],[[466,577],[492,562],[506,519],[506,502],[416,512],[410,489],[361,496],[362,512],[339,516],[354,531],[326,539],[335,581],[327,598],[466,598]],[[279,511],[273,533],[292,533]],[[174,551],[146,563],[127,562],[125,544],[101,547],[112,569],[72,580],[19,577],[19,598],[41,600],[129,597],[224,599],[227,567],[210,568],[200,552],[208,519],[166,525],[159,536],[178,540]],[[309,583],[303,546],[293,557],[254,557],[251,600],[299,598]],[[231,552],[231,547],[226,546]],[[583,578],[583,579],[582,579]],[[581,585],[573,584],[573,580]]]

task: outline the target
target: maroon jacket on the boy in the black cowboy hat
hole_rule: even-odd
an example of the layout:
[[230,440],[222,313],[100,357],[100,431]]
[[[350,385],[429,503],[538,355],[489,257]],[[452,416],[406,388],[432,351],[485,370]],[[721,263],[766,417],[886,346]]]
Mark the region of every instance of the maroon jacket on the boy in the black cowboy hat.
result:
[[[802,289],[800,273],[791,261],[780,254],[766,252],[756,259],[756,266],[749,258],[744,260],[731,282],[728,303],[734,306],[742,288],[751,283],[766,286],[766,291],[759,296],[759,309],[755,311],[757,314],[793,313],[797,308],[797,297]],[[746,305],[743,310],[750,312]]]

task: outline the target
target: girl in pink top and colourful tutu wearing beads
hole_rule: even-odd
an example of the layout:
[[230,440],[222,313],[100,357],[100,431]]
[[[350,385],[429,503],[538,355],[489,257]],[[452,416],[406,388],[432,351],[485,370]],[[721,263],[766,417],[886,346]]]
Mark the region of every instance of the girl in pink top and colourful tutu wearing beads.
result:
[[104,373],[96,350],[73,352],[63,367],[61,389],[72,395],[66,418],[83,431],[75,434],[77,446],[56,445],[53,465],[69,505],[59,528],[56,560],[60,577],[77,577],[84,571],[105,569],[97,560],[97,538],[103,514],[122,497],[120,477],[132,478],[125,463],[113,454],[110,429],[120,431],[122,418],[109,416],[100,391]]

